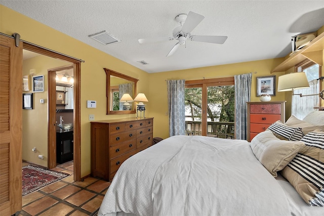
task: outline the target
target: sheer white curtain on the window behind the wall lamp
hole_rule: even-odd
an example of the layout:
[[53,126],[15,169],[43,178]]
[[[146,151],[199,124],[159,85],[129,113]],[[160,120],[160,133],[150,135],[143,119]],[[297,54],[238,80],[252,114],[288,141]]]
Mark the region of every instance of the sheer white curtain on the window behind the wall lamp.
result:
[[[310,88],[297,89],[295,94],[318,94],[318,80],[312,80],[308,82]],[[314,106],[318,106],[318,95],[300,97],[293,95],[292,98],[292,115],[296,118],[303,120],[307,114],[314,111]]]

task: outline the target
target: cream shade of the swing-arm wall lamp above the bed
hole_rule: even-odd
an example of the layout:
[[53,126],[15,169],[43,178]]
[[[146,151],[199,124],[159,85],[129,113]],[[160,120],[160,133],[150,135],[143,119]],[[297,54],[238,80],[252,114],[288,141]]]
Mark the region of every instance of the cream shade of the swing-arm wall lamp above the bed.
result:
[[308,87],[309,84],[305,72],[286,74],[278,78],[278,91],[292,91]]

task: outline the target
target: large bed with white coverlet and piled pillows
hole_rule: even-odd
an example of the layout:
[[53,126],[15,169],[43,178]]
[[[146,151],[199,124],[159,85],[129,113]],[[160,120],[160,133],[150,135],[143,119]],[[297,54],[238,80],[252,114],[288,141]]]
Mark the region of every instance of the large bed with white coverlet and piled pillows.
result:
[[[291,174],[310,135],[323,141],[316,149],[324,160],[324,126],[302,121],[311,130],[305,135],[292,126],[298,121],[281,123],[293,132],[267,130],[251,143],[205,136],[162,140],[121,164],[98,215],[324,215],[324,185],[313,187]],[[294,140],[300,131],[302,139]],[[324,161],[316,167],[324,182]],[[311,185],[306,189],[315,194],[313,202],[300,183]]]

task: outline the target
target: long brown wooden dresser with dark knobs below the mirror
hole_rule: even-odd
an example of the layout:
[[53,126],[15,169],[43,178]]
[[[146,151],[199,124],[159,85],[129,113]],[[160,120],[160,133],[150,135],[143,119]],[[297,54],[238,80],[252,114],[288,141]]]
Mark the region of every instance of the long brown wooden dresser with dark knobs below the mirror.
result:
[[110,182],[120,165],[152,140],[153,118],[91,122],[91,175]]

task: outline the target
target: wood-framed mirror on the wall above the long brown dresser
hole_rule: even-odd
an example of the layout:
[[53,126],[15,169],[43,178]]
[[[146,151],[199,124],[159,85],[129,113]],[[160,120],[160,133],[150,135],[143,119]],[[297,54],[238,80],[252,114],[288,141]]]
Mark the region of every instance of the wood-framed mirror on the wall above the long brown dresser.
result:
[[[137,79],[120,74],[108,68],[106,72],[106,97],[108,114],[132,114],[136,113],[135,102],[126,99],[120,101],[121,97],[129,96],[134,99],[137,95]],[[125,97],[123,97],[125,98]],[[129,97],[128,97],[129,98]]]

